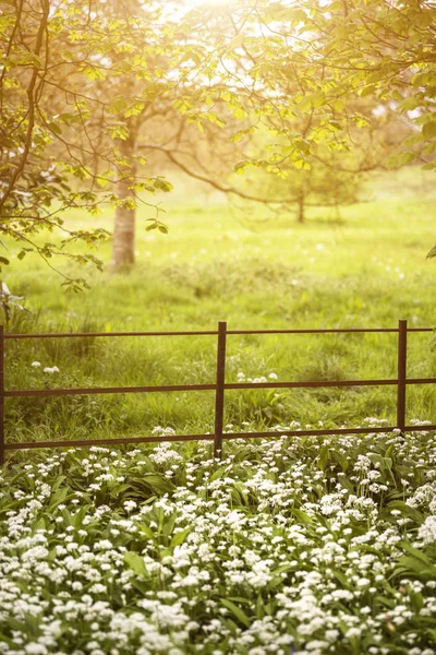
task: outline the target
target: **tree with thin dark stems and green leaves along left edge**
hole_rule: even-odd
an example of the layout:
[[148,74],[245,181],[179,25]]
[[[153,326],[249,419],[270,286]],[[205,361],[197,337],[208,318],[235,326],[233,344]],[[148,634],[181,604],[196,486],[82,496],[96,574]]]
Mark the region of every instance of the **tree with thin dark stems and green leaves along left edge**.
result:
[[[15,0],[5,7],[0,39],[3,243],[19,241],[20,259],[37,251],[46,261],[64,254],[100,266],[94,254],[72,253],[69,245],[80,240],[93,247],[108,236],[106,230],[71,231],[63,212],[86,207],[93,213],[106,203],[128,212],[131,189],[169,188],[158,176],[138,179],[128,152],[132,139],[126,124],[138,122],[136,117],[146,112],[150,98],[167,91],[165,83],[153,80],[148,60],[142,58],[145,49],[150,57],[161,57],[154,22],[135,19],[121,3],[114,3],[108,16],[94,0]],[[150,11],[158,20],[159,12]],[[134,51],[137,55],[132,57]],[[158,71],[156,67],[154,75]],[[120,76],[123,120],[110,85],[102,92],[104,82]],[[129,87],[133,78],[147,82],[140,94]],[[48,239],[39,245],[35,237],[55,228],[65,233],[61,245]],[[8,263],[4,257],[1,261]],[[86,282],[65,276],[64,284],[77,289]]]

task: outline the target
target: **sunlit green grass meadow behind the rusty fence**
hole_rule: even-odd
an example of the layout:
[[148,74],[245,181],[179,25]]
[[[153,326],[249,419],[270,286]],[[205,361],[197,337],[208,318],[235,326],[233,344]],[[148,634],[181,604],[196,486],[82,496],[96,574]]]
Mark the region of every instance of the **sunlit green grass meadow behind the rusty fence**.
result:
[[[175,189],[165,199],[169,235],[145,231],[152,215],[145,209],[135,267],[112,274],[108,242],[100,250],[106,271],[85,271],[92,284],[85,294],[65,295],[36,257],[13,260],[7,282],[24,296],[29,313],[17,312],[9,330],[214,330],[218,320],[229,329],[391,327],[400,318],[432,326],[436,264],[425,260],[436,240],[432,189],[421,170],[384,174],[368,182],[366,202],[342,209],[340,218],[313,209],[302,226],[291,214],[234,212],[220,196]],[[111,225],[109,212],[68,218],[75,226]],[[431,338],[410,337],[410,376],[435,374]],[[215,341],[9,342],[7,388],[213,382]],[[35,360],[39,368],[31,366]],[[59,372],[43,372],[53,366]],[[233,336],[227,380],[237,381],[239,373],[276,373],[287,381],[395,377],[396,336]],[[393,419],[395,400],[389,388],[229,392],[226,422],[235,430],[291,421],[360,425],[367,416]],[[435,401],[428,386],[409,389],[409,418],[429,418]],[[10,400],[8,439],[143,434],[156,426],[203,432],[213,429],[213,393]]]

